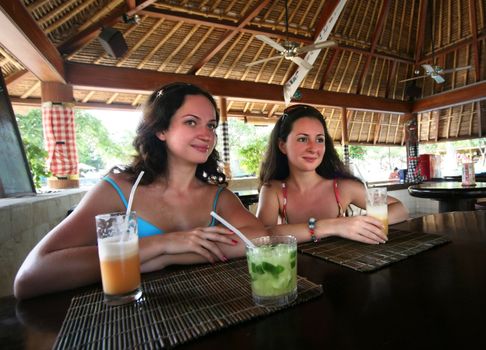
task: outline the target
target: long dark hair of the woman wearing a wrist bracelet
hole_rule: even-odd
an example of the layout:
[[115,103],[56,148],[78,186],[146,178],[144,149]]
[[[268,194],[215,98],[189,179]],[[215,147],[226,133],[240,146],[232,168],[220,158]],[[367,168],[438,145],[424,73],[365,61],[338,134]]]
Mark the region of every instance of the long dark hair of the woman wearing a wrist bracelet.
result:
[[285,180],[289,177],[289,161],[287,156],[280,151],[278,144],[279,141],[287,141],[295,121],[300,118],[318,120],[324,128],[326,149],[321,164],[316,168],[317,174],[325,179],[345,178],[358,180],[346,169],[346,166],[339,158],[321,112],[312,106],[299,104],[285,109],[270,134],[269,145],[260,167],[260,187],[271,180]]

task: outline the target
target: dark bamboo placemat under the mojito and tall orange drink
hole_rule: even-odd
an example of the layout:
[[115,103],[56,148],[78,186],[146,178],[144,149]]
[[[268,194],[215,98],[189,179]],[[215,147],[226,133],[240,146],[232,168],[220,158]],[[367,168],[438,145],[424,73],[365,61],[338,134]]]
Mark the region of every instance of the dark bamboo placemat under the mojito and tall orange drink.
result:
[[[322,294],[298,276],[296,305]],[[172,348],[205,334],[286,308],[256,306],[246,259],[174,271],[142,282],[143,296],[109,307],[101,288],[72,299],[55,349]]]

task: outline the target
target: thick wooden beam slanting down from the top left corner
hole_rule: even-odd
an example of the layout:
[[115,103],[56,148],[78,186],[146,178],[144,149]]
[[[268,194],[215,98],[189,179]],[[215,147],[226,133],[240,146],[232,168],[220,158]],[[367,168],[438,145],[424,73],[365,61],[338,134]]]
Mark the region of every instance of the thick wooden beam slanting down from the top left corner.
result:
[[19,0],[0,0],[0,44],[41,81],[64,83],[63,59]]

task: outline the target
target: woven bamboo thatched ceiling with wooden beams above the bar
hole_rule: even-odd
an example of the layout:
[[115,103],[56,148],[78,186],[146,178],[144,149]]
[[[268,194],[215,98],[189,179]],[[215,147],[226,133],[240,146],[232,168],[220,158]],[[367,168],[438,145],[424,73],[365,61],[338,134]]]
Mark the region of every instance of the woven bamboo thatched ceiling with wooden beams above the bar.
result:
[[[400,145],[417,118],[421,142],[486,133],[484,0],[347,0],[300,84],[339,142]],[[316,41],[340,0],[288,0],[288,39]],[[273,122],[297,65],[256,38],[286,39],[285,0],[0,0],[0,66],[14,105],[39,106],[44,83],[70,84],[79,108],[135,109],[162,84],[205,87],[228,117]],[[138,21],[136,21],[138,17]],[[138,22],[138,23],[136,23]],[[111,57],[97,39],[119,30]],[[303,56],[302,56],[303,57]],[[409,82],[422,64],[471,66]],[[414,95],[415,96],[411,96]],[[344,126],[344,128],[343,128]]]

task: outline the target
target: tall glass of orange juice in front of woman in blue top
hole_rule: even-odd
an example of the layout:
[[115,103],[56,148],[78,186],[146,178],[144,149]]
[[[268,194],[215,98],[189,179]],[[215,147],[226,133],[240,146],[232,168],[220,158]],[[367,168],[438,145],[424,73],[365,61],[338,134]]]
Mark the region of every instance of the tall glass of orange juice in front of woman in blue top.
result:
[[138,227],[134,211],[96,216],[101,281],[107,305],[122,305],[142,296]]

